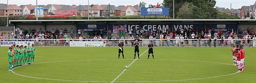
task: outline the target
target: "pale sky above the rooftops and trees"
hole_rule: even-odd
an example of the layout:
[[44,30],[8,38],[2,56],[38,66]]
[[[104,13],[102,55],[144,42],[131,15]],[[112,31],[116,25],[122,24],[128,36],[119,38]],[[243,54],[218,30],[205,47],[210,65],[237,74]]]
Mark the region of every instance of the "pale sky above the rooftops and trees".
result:
[[[163,0],[89,0],[89,4],[111,4],[111,5],[136,5],[144,1],[145,3],[156,5],[157,2],[162,3]],[[217,7],[230,8],[230,3],[232,3],[231,8],[238,9],[242,6],[253,5],[256,0],[216,0]],[[0,0],[0,3],[7,4],[7,0]],[[36,5],[36,0],[9,0],[8,4],[16,5],[26,5],[32,4]],[[47,4],[63,4],[63,5],[87,5],[88,0],[38,0],[38,5]],[[146,5],[146,6],[147,6]]]

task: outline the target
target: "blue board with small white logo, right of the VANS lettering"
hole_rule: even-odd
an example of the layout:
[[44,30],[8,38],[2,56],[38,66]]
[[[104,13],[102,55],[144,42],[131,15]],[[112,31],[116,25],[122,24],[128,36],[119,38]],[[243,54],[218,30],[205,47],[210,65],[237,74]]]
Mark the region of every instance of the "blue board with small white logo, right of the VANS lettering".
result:
[[223,30],[223,32],[227,32],[227,29],[234,29],[234,31],[237,32],[237,25],[206,25],[206,28],[212,29],[214,28],[215,31],[219,31],[220,29]]

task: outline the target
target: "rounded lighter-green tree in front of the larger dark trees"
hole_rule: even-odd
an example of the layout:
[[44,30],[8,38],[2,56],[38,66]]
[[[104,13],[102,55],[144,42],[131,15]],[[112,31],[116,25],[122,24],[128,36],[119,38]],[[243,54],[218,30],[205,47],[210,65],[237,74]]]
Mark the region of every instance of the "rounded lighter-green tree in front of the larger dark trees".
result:
[[177,19],[191,19],[193,10],[188,4],[184,4],[178,11]]

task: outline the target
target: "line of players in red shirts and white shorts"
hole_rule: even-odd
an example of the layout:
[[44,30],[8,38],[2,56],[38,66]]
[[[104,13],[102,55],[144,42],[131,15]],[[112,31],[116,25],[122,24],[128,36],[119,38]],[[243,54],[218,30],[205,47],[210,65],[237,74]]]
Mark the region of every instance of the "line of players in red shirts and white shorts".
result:
[[243,45],[237,45],[236,47],[233,45],[233,48],[231,49],[233,52],[233,60],[234,60],[234,66],[238,67],[238,72],[244,71],[244,56],[245,56],[245,51],[244,51],[244,46]]

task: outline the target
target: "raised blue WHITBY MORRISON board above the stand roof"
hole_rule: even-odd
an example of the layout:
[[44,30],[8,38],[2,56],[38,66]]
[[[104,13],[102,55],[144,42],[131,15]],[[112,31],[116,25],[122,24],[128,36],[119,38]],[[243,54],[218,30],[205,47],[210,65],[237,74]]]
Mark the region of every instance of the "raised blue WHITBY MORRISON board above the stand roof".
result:
[[141,8],[141,16],[169,16],[169,8]]

